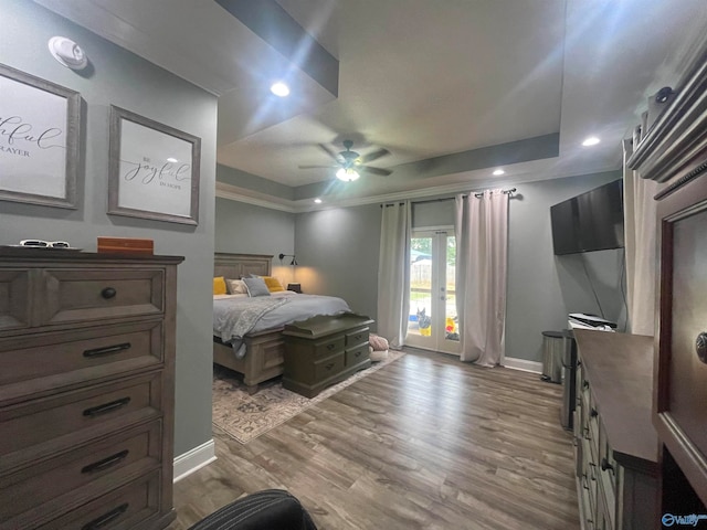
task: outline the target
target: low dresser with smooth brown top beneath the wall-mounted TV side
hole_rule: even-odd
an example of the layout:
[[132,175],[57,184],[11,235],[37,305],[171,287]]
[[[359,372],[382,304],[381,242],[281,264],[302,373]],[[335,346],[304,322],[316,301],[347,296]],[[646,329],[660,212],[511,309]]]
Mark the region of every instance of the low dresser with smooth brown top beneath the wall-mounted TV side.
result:
[[651,423],[653,339],[576,329],[574,444],[584,530],[654,528],[657,435]]

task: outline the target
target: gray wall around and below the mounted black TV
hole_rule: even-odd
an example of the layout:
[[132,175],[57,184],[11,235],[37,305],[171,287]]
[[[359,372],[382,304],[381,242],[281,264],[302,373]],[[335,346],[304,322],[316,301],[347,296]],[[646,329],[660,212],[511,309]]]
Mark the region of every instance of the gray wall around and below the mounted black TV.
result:
[[568,312],[599,315],[592,285],[606,318],[625,320],[618,289],[623,250],[555,256],[550,227],[551,205],[619,178],[614,171],[517,186],[509,215],[506,357],[540,361],[542,331],[566,329]]

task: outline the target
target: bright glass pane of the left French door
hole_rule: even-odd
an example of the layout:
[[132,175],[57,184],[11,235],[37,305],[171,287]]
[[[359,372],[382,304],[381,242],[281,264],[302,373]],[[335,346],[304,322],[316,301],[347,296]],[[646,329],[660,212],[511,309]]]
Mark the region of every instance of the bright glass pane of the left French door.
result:
[[410,240],[410,317],[408,333],[432,331],[432,237]]

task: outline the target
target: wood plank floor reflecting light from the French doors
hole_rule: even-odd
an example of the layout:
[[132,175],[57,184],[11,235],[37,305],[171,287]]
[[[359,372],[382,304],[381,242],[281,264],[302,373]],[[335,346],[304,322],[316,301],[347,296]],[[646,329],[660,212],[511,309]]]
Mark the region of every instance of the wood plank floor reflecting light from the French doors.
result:
[[409,350],[176,484],[190,524],[243,496],[287,489],[319,530],[579,528],[561,386]]

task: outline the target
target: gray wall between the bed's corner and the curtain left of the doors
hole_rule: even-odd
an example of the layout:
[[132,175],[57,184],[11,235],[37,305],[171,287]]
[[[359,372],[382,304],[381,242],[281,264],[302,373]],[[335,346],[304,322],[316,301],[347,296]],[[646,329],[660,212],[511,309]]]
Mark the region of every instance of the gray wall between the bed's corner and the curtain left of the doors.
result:
[[380,219],[379,204],[298,214],[296,277],[303,290],[339,296],[376,319]]

